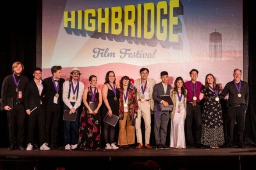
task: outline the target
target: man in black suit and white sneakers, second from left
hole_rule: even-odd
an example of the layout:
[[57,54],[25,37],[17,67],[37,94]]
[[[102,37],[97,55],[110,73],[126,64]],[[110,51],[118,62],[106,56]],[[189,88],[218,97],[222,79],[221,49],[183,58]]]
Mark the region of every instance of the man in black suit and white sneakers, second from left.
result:
[[34,79],[28,83],[24,93],[24,105],[28,114],[28,146],[27,150],[33,150],[34,129],[36,122],[39,127],[40,150],[50,150],[45,142],[45,107],[43,105],[43,85],[41,80],[42,69],[34,70]]

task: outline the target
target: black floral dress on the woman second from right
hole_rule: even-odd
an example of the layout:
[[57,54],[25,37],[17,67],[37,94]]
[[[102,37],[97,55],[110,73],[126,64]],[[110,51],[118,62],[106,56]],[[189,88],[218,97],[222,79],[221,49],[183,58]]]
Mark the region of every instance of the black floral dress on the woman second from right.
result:
[[224,144],[223,120],[220,101],[211,90],[202,86],[200,92],[206,96],[203,104],[203,131],[201,143],[205,146],[220,146]]

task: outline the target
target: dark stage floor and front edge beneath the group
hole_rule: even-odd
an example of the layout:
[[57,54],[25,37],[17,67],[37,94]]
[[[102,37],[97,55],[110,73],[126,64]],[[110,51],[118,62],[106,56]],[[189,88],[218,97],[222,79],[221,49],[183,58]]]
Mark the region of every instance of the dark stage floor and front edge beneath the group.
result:
[[[255,166],[256,148],[128,149],[128,150],[7,150],[0,148],[0,170],[127,170],[134,161],[154,160],[161,170],[233,169]],[[82,168],[81,168],[82,167]]]

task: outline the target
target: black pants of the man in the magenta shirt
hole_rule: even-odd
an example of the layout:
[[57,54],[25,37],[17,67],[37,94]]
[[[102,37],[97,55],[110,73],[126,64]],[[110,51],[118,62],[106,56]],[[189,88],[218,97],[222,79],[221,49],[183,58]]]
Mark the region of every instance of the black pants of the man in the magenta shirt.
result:
[[187,103],[187,116],[186,116],[186,132],[187,139],[189,144],[194,143],[194,138],[192,134],[192,121],[193,118],[196,121],[196,143],[201,143],[201,135],[202,135],[202,113],[201,106],[197,104],[195,107],[191,103]]

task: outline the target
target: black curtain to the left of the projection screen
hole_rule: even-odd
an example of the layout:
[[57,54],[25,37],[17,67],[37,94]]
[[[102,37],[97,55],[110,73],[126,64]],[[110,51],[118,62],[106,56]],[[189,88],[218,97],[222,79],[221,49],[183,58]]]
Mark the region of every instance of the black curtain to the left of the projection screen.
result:
[[[0,10],[0,87],[4,77],[12,73],[15,61],[24,64],[23,74],[32,79],[36,67],[36,0],[6,1]],[[11,14],[12,13],[12,14]],[[13,17],[10,17],[13,16]],[[0,146],[8,146],[7,113],[0,111]]]

